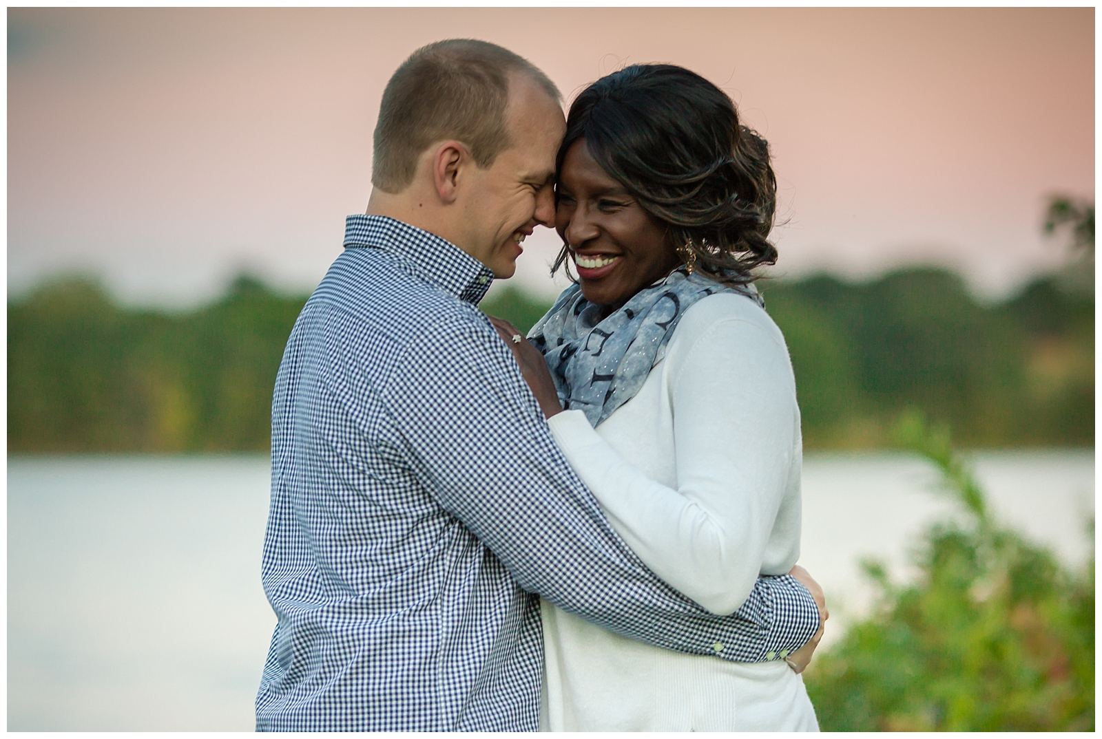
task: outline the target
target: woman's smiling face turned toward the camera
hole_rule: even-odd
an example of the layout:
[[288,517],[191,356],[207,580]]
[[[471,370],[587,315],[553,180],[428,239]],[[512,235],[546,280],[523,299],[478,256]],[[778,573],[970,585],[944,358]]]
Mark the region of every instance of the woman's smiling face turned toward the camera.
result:
[[612,309],[681,263],[666,226],[601,169],[584,139],[563,157],[555,230],[570,244],[585,300]]

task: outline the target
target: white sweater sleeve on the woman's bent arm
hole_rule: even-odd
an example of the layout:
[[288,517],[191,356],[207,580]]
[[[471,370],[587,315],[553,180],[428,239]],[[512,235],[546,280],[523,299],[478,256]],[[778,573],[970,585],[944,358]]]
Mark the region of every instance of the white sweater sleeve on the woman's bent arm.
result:
[[568,460],[651,570],[713,613],[746,600],[799,430],[785,346],[741,318],[712,324],[671,373],[677,489],[629,465],[580,411],[551,417]]

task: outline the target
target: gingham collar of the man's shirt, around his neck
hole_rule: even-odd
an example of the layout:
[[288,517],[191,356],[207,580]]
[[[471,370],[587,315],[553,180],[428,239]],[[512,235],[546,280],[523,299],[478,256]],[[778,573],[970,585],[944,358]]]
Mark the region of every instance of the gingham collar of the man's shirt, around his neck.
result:
[[357,214],[345,219],[346,249],[369,247],[403,258],[414,273],[451,295],[478,304],[494,281],[494,273],[447,239],[415,226]]

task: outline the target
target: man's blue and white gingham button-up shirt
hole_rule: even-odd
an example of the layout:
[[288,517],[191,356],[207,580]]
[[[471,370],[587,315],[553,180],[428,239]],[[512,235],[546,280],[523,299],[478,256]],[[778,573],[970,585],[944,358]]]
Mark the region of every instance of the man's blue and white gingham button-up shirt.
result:
[[706,659],[810,639],[791,577],[716,617],[618,539],[476,307],[483,264],[379,216],[344,246],[276,380],[258,729],[536,730],[539,596]]

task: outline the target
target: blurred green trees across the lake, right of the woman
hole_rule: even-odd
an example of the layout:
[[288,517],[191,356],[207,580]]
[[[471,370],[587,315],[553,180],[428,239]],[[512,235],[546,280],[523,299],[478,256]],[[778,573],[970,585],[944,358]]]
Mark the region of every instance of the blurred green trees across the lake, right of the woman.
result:
[[939,270],[763,286],[796,371],[809,448],[889,443],[920,407],[966,446],[1093,443],[1094,301],[1038,280],[994,306]]

